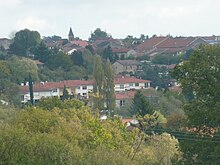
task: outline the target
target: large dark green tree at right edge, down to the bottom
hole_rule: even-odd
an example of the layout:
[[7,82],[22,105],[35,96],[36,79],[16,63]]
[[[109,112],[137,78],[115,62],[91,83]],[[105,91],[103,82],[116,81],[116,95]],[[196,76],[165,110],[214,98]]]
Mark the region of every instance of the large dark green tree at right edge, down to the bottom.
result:
[[192,138],[181,141],[183,162],[186,164],[219,162],[216,156],[216,151],[219,152],[219,135],[213,132],[219,129],[220,123],[219,54],[220,47],[200,46],[172,73],[188,99],[184,105],[187,126],[195,130],[190,137],[201,137],[193,141]]

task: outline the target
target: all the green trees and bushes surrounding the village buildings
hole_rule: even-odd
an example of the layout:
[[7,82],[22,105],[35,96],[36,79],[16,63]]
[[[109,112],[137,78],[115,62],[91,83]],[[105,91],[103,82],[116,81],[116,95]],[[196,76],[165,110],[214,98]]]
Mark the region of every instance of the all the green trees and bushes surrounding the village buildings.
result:
[[[111,36],[96,29],[90,40],[103,38]],[[134,46],[147,38],[128,36],[123,42]],[[138,91],[124,109],[115,111],[138,121],[131,130],[113,113],[100,119],[104,103],[115,110],[111,63],[118,57],[111,47],[97,52],[87,46],[67,55],[47,48],[40,34],[28,29],[16,33],[9,50],[1,47],[0,164],[220,163],[219,47],[157,55],[151,64],[144,63],[135,76],[151,80],[158,90]],[[170,75],[165,65],[179,62]],[[18,85],[30,75],[34,82],[93,77],[94,105],[69,99],[64,92],[62,100],[44,98],[35,107],[21,108]],[[172,78],[182,93],[169,90]],[[9,105],[1,105],[4,101]]]

